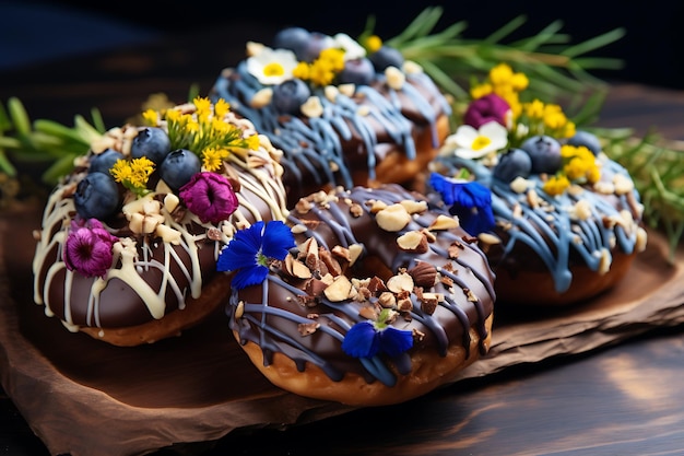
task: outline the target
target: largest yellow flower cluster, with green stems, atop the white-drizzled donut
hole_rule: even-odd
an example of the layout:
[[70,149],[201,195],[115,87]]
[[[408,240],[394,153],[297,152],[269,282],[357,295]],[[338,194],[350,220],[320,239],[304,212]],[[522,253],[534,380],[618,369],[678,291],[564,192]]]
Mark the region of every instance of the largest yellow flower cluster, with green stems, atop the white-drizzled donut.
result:
[[221,168],[232,152],[259,148],[257,135],[243,138],[243,130],[227,121],[231,106],[224,100],[212,104],[209,98],[198,96],[192,104],[193,113],[172,108],[160,114],[148,109],[143,118],[152,126],[158,125],[162,118],[166,120],[172,150],[187,149],[197,153],[208,171]]

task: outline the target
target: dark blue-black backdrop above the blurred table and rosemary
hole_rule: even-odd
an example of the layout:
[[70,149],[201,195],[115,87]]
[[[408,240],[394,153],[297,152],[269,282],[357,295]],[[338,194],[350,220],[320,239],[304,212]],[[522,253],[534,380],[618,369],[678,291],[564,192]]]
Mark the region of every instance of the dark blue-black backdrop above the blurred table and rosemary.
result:
[[[300,25],[326,33],[345,32],[355,36],[370,14],[375,30],[389,38],[400,33],[425,7],[441,4],[443,21],[437,27],[465,21],[463,36],[481,39],[511,19],[526,14],[527,23],[517,36],[534,35],[555,20],[573,43],[624,27],[626,35],[592,55],[622,59],[625,68],[598,72],[624,81],[667,87],[684,87],[684,2],[682,1],[362,1],[335,0],[280,3],[260,1],[107,2],[1,0],[0,71],[39,58],[64,52],[87,51],[135,43],[164,34],[187,34],[205,27],[229,27],[236,22]],[[86,15],[83,15],[86,14]],[[81,19],[78,25],[69,19]],[[60,22],[61,21],[61,22]],[[67,21],[67,22],[63,22]],[[85,25],[84,25],[85,23]],[[250,39],[249,36],[245,40]],[[220,47],[221,43],[207,46]]]

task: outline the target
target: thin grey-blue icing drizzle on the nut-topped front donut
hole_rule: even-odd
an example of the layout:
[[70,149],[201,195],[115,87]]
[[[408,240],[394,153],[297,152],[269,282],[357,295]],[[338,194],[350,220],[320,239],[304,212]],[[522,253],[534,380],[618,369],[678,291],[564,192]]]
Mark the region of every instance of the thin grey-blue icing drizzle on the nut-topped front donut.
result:
[[[400,187],[398,186],[392,186],[391,189],[388,190],[362,189],[357,187],[352,191],[340,194],[339,200],[335,202],[314,204],[309,209],[308,213],[310,215],[307,217],[306,220],[323,222],[332,233],[332,237],[328,237],[329,235],[326,234],[326,231],[318,233],[315,229],[309,229],[308,226],[316,226],[317,224],[307,224],[305,220],[296,217],[295,211],[290,213],[288,223],[296,226],[307,226],[304,232],[299,232],[297,230],[299,233],[298,235],[305,239],[310,237],[316,238],[319,246],[322,246],[327,250],[330,250],[333,247],[333,245],[329,244],[331,241],[334,241],[334,243],[340,246],[350,246],[352,244],[364,245],[365,255],[380,256],[384,258],[384,261],[392,264],[397,269],[400,267],[410,269],[415,266],[417,261],[421,261],[421,258],[423,257],[416,256],[416,254],[401,252],[396,247],[393,253],[388,253],[384,250],[382,246],[368,246],[366,237],[369,233],[366,233],[364,230],[354,231],[352,227],[352,221],[355,220],[355,218],[350,217],[349,207],[349,203],[354,201],[363,208],[364,215],[362,217],[374,218],[370,212],[370,206],[366,206],[363,202],[369,200],[380,200],[387,204],[392,204],[399,203],[410,197],[411,194],[405,190],[400,190]],[[393,238],[393,236],[399,236],[401,233],[408,231],[426,229],[431,224],[432,220],[434,220],[434,215],[431,218],[424,214],[416,214],[412,218],[409,225],[404,230],[400,233],[394,233],[391,236]],[[410,317],[406,318],[406,325],[410,325],[411,321],[413,325],[420,325],[418,327],[421,327],[423,331],[429,332],[432,339],[434,340],[434,350],[444,356],[447,354],[447,349],[449,344],[452,343],[452,339],[455,337],[453,335],[448,334],[445,326],[443,326],[444,318],[446,318],[446,311],[447,313],[453,315],[455,320],[458,321],[458,325],[462,328],[460,331],[459,343],[461,343],[465,349],[467,356],[470,356],[471,337],[468,328],[470,328],[471,325],[474,325],[479,330],[481,338],[480,352],[486,353],[486,347],[483,340],[487,336],[487,329],[484,321],[488,314],[485,314],[484,304],[479,299],[472,302],[471,304],[472,307],[475,308],[476,315],[469,315],[469,313],[464,309],[463,304],[459,303],[462,302],[463,296],[457,299],[451,295],[452,293],[460,293],[461,289],[464,293],[465,290],[470,289],[470,287],[474,287],[474,283],[476,282],[484,290],[486,290],[486,293],[490,293],[492,300],[494,299],[492,278],[486,277],[484,272],[479,272],[480,268],[483,265],[486,265],[486,258],[480,249],[463,242],[463,239],[455,233],[435,232],[435,234],[438,236],[439,243],[432,243],[432,252],[435,252],[438,257],[441,257],[445,260],[445,264],[448,258],[446,247],[438,247],[438,244],[449,245],[450,243],[462,243],[462,248],[464,250],[477,253],[475,258],[476,261],[480,261],[480,267],[471,268],[468,261],[461,256],[452,258],[452,261],[457,261],[464,269],[460,270],[460,273],[448,270],[439,271],[453,284],[451,285],[452,289],[446,288],[441,283],[437,283],[435,285],[435,291],[445,294],[445,300],[437,303],[438,308],[443,309],[437,313],[439,318],[433,316],[433,313],[425,312],[422,308],[422,303],[417,296],[415,294],[411,294],[410,297],[413,303],[413,307],[411,311],[408,311]],[[326,241],[327,237],[329,241]],[[392,243],[390,241],[390,245]],[[431,255],[429,258],[435,258],[434,255]],[[473,257],[469,256],[469,258],[472,260]],[[472,271],[473,274],[465,271]],[[245,295],[241,291],[233,290],[228,312],[235,312],[238,304],[244,306],[244,312],[240,318],[231,319],[231,327],[239,332],[240,341],[258,341],[263,352],[264,362],[267,363],[271,362],[273,353],[280,352],[290,356],[300,371],[305,369],[306,363],[311,363],[319,366],[331,379],[340,381],[344,376],[344,372],[340,367],[335,366],[334,361],[328,360],[326,355],[317,353],[315,349],[316,344],[310,346],[307,342],[304,342],[305,339],[303,339],[303,337],[299,337],[298,335],[288,335],[285,329],[279,329],[281,328],[280,326],[274,328],[273,326],[276,326],[276,323],[273,318],[290,320],[293,325],[310,325],[318,323],[319,326],[317,327],[317,332],[331,337],[341,343],[344,338],[344,334],[351,328],[351,326],[355,323],[364,321],[366,317],[359,313],[358,302],[354,300],[333,302],[330,301],[325,294],[317,297],[315,309],[312,308],[311,311],[306,311],[302,307],[304,304],[298,303],[299,297],[304,300],[307,299],[307,292],[302,290],[300,287],[300,284],[295,285],[288,283],[280,273],[272,270],[261,285],[255,285],[255,288],[260,290],[259,293],[249,294],[249,296],[256,297],[260,302],[255,302],[253,299],[247,299],[247,295]],[[274,290],[280,290],[278,297],[274,295]],[[286,294],[282,295],[283,292]],[[372,296],[369,299],[370,302],[376,302],[377,300],[377,296]],[[280,303],[292,304],[285,304],[284,306],[283,304],[279,304],[279,307],[274,307],[274,303],[276,301]],[[290,307],[287,306],[294,307],[290,311]],[[297,308],[299,311],[297,311]],[[307,312],[314,312],[315,317],[310,317],[306,314]],[[481,319],[482,321],[475,324],[473,317],[476,317],[477,320]],[[243,320],[246,320],[247,323]],[[282,328],[287,326],[288,325],[283,325]],[[255,332],[250,329],[251,327],[258,328],[258,331]],[[365,373],[369,376],[367,382],[378,381],[389,387],[396,385],[398,382],[394,370],[402,375],[406,375],[411,372],[411,358],[408,353],[402,353],[401,355],[392,359],[376,355],[369,359],[359,359],[356,361],[363,365]]]

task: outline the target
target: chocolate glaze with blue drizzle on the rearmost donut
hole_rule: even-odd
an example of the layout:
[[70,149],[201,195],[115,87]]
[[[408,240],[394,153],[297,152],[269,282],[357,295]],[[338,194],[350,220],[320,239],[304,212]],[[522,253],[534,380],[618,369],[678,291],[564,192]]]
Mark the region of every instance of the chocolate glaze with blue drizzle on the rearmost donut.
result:
[[421,135],[432,138],[434,149],[440,145],[437,121],[451,114],[448,101],[426,73],[404,71],[404,77],[405,83],[392,89],[378,72],[369,85],[357,85],[350,95],[339,92],[334,100],[326,94],[330,86],[315,87],[311,95],[323,106],[315,118],[284,115],[270,104],[253,107],[252,98],[267,86],[247,71],[246,61],[224,69],[209,96],[227,101],[283,150],[283,182],[292,206],[320,188],[388,183],[376,175],[377,164],[390,152],[411,161],[426,153],[417,150]]

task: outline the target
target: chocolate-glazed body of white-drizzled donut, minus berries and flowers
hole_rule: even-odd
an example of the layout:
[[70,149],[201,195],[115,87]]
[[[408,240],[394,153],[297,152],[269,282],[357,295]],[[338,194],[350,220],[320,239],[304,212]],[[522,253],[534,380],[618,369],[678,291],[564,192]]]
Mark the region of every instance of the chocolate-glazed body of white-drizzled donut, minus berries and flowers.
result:
[[[176,109],[193,112],[186,105]],[[257,138],[249,121],[229,112],[223,120],[239,133],[238,142],[243,137],[259,141],[253,149],[234,150],[214,173],[224,186],[231,184],[236,198],[237,208],[222,220],[202,220],[193,213],[155,169],[143,197],[119,188],[122,207],[102,220],[84,222],[75,195],[102,148],[80,157],[74,172],[50,195],[36,232],[34,300],[45,306],[47,316],[59,318],[73,332],[116,346],[138,346],[177,336],[225,302],[229,280],[216,271],[221,248],[239,227],[258,220],[283,220],[287,211],[279,178],[282,169],[272,156],[279,151],[268,139]],[[143,127],[115,128],[103,141],[129,156],[131,140],[142,131]],[[93,233],[101,233],[110,246],[111,259],[97,273],[74,270],[66,261],[68,238],[80,223],[94,226],[86,234],[94,238]],[[80,248],[94,252],[96,247],[93,243]]]

